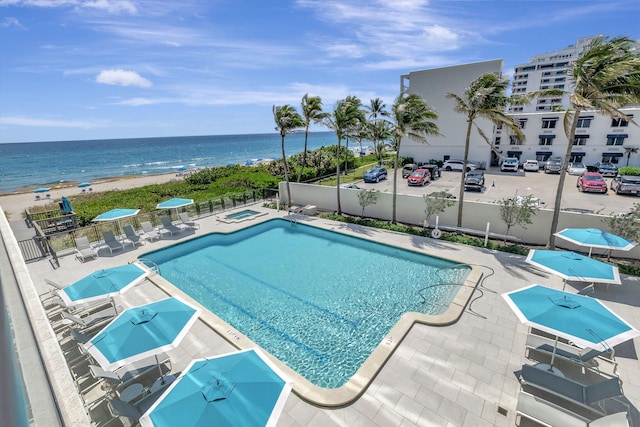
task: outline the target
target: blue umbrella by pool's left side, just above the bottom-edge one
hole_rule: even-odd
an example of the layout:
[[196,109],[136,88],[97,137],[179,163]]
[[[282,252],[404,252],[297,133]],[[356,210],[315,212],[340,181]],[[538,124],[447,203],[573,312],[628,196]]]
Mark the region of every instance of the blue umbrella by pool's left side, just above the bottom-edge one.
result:
[[173,297],[123,311],[84,348],[106,370],[178,346],[200,310]]

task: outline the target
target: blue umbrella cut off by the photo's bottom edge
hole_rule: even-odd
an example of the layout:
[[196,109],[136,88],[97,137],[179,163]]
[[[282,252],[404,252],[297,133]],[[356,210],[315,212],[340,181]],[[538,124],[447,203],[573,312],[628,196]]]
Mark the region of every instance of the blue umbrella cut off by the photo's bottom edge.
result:
[[199,359],[140,418],[142,426],[275,426],[292,383],[257,349]]

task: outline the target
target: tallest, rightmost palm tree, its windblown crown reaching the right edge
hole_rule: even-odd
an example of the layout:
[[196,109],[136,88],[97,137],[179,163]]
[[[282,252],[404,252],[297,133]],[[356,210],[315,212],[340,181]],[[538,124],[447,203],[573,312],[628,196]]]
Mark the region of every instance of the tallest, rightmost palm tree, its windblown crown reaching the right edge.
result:
[[564,114],[564,129],[569,143],[556,190],[549,249],[555,249],[554,233],[558,228],[562,190],[573,148],[571,141],[575,139],[580,112],[595,111],[623,117],[633,123],[620,108],[640,102],[640,53],[634,46],[634,41],[628,37],[595,37],[570,64],[569,75],[573,81],[573,91],[569,93],[571,109]]

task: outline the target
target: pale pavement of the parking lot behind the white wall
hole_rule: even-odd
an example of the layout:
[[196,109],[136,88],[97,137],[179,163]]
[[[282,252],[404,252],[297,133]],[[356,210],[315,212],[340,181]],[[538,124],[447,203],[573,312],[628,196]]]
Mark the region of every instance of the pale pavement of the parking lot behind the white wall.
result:
[[[544,203],[544,208],[553,209],[556,188],[560,175],[544,172],[500,172],[498,168],[484,171],[485,187],[482,191],[466,191],[464,199],[496,203],[513,196],[533,195]],[[429,194],[435,191],[448,191],[458,197],[460,191],[460,172],[441,171],[442,176],[424,187],[409,187],[398,171],[398,193]],[[566,176],[562,196],[562,209],[576,209],[609,215],[631,210],[634,203],[640,203],[640,197],[616,195],[611,190],[607,194],[582,193],[576,188],[578,177]],[[609,186],[612,178],[605,178]],[[389,179],[379,183],[356,183],[361,188],[393,191],[393,169],[389,170]]]

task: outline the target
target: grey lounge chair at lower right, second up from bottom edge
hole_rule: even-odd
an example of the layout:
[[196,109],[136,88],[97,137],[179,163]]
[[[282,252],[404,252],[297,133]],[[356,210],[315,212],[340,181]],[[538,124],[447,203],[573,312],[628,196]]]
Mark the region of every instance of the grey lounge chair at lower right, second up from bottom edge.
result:
[[[624,402],[617,399],[624,395],[618,378],[609,378],[595,384],[585,385],[557,373],[549,372],[548,369],[531,365],[522,366],[520,378],[524,385],[565,399],[569,404],[577,404],[588,409],[595,410],[593,404],[601,405],[603,401],[609,399],[625,405]],[[604,415],[604,411],[602,414]]]

